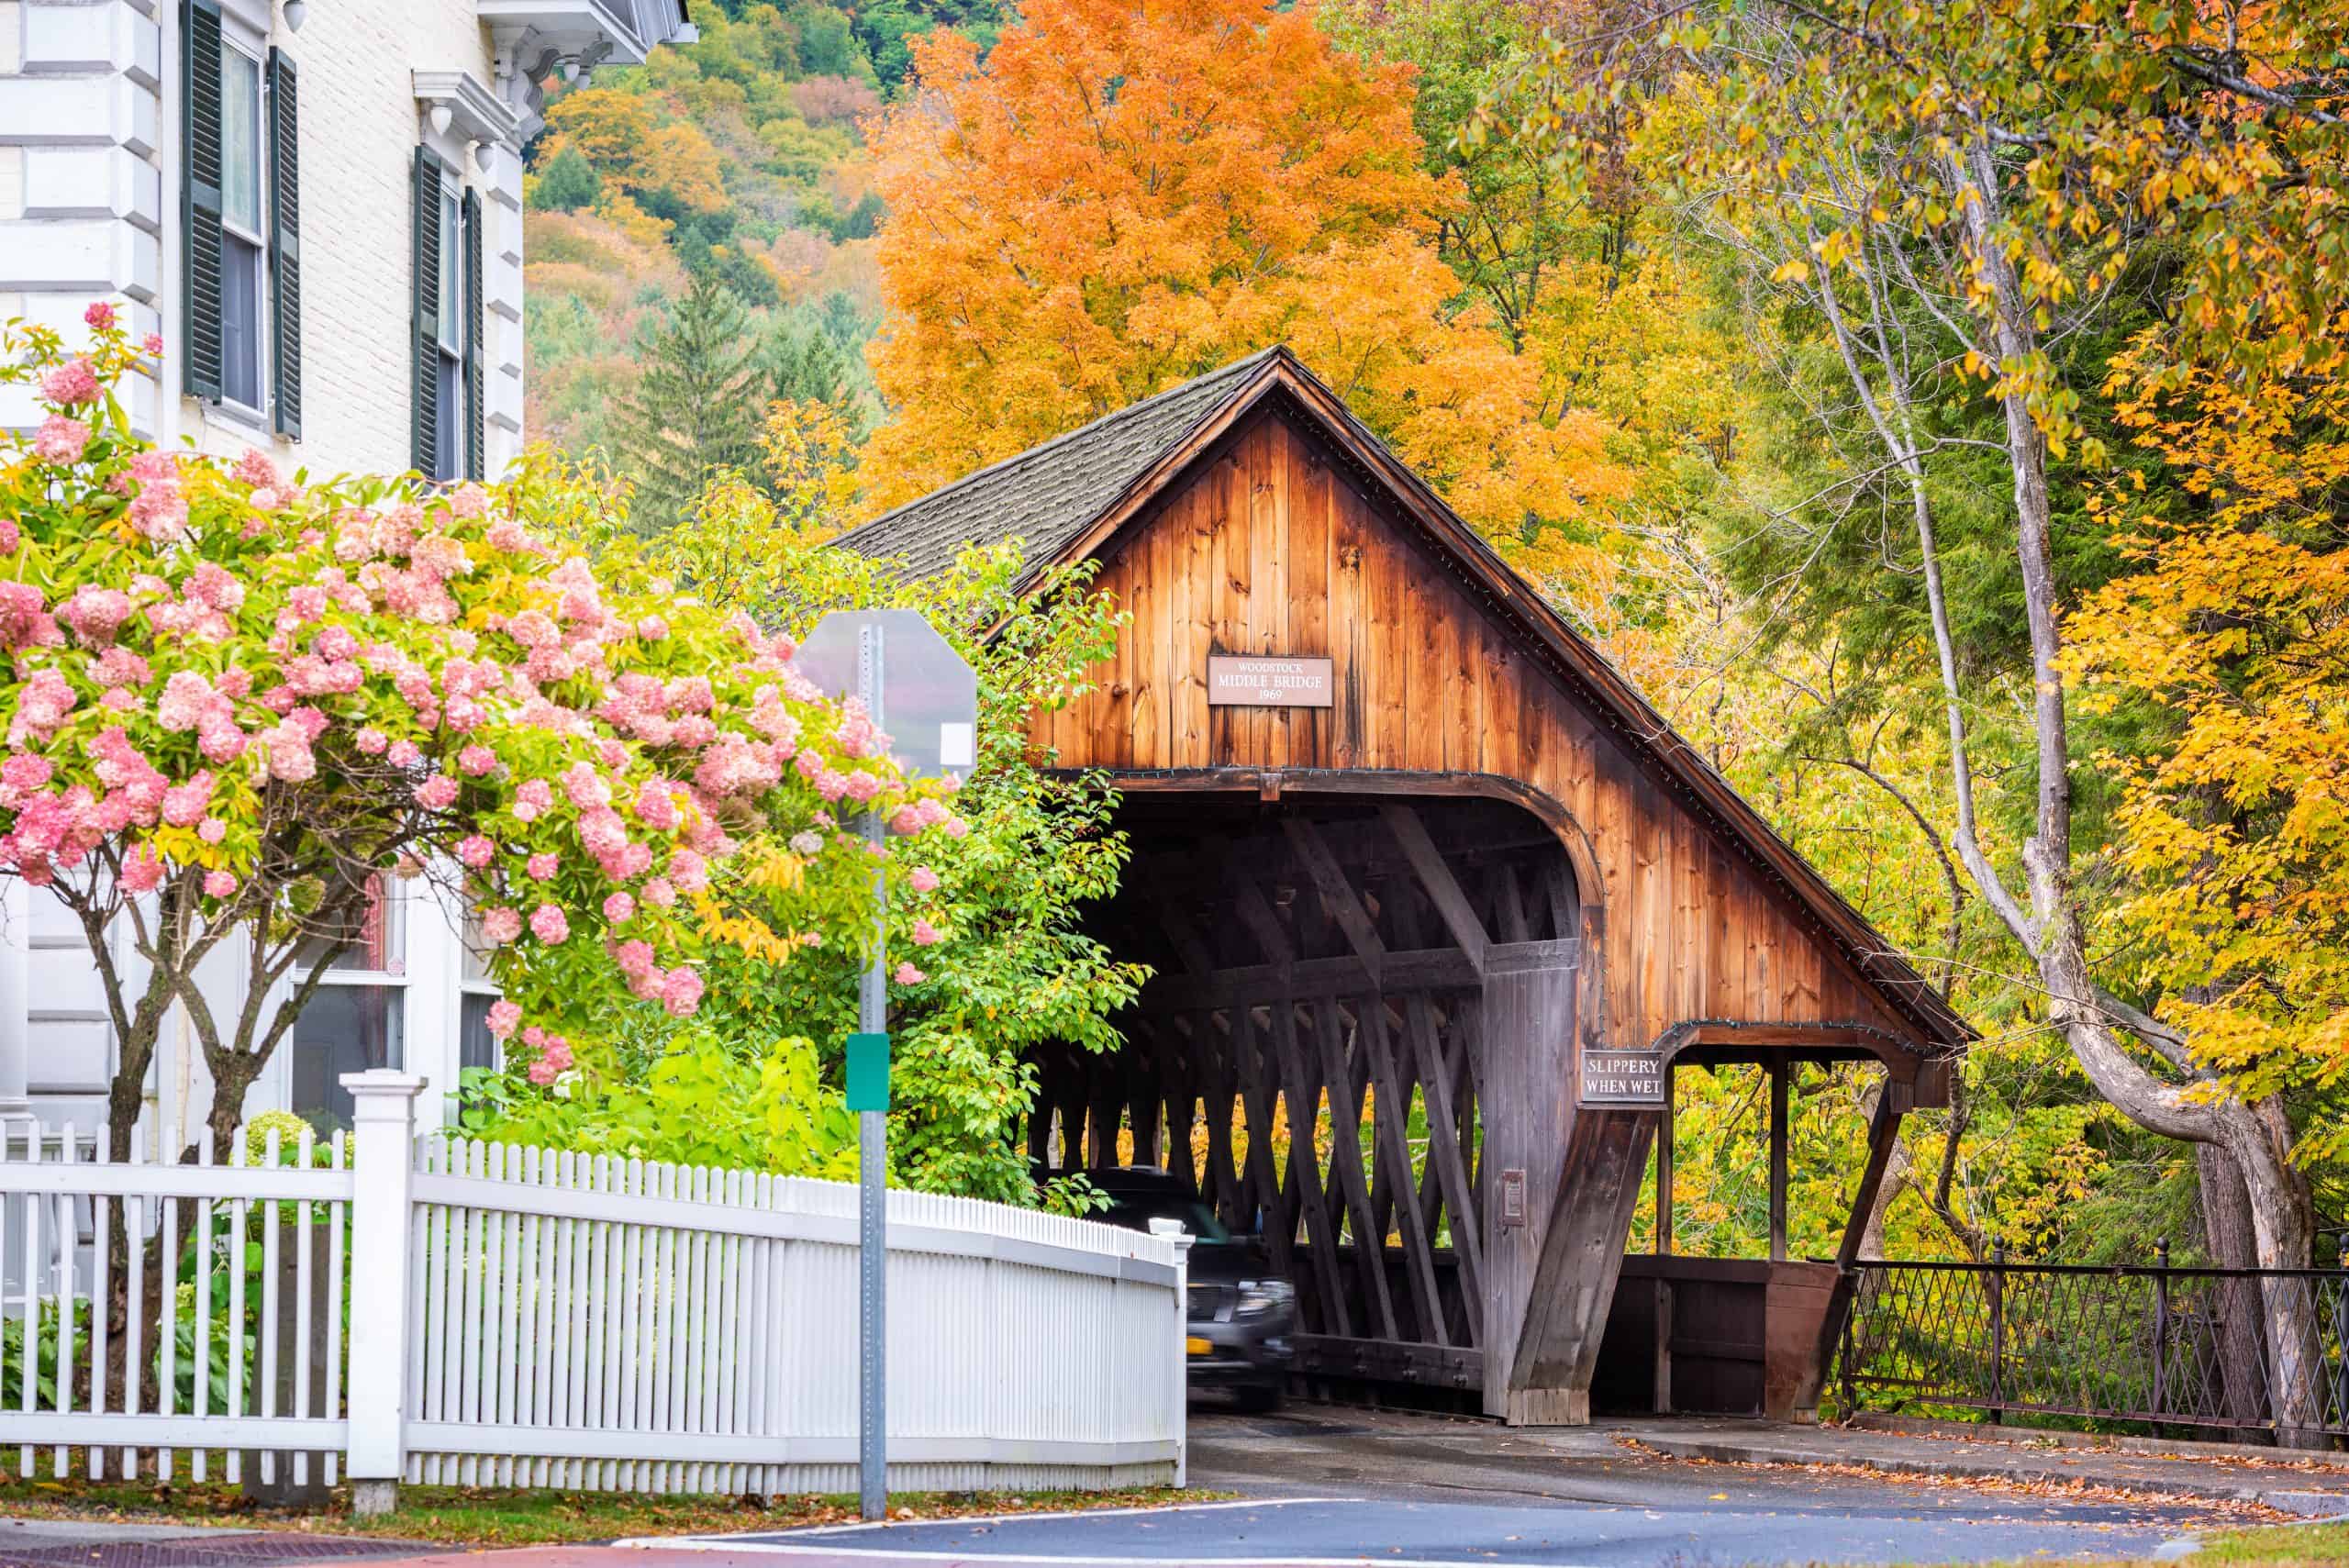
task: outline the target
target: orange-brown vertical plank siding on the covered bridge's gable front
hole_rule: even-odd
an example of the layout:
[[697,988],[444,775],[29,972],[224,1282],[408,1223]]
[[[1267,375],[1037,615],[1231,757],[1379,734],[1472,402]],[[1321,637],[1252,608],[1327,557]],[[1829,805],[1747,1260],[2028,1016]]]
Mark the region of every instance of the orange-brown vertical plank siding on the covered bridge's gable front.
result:
[[[1581,826],[1604,906],[1597,1033],[1675,1023],[1863,1023],[1919,1040],[1748,847],[1595,716],[1367,477],[1259,408],[1099,547],[1132,615],[1097,690],[1043,714],[1064,768],[1496,775]],[[1207,653],[1327,657],[1330,709],[1207,707]],[[1586,1038],[1590,1035],[1586,1021]]]

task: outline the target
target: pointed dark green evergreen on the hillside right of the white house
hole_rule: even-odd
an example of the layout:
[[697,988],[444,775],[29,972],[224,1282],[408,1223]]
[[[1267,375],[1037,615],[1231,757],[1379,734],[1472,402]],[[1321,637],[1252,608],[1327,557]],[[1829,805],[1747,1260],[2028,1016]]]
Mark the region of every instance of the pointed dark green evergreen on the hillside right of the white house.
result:
[[641,533],[672,526],[721,467],[759,460],[766,387],[742,303],[716,277],[693,277],[669,324],[646,345],[620,399],[620,467],[637,484]]

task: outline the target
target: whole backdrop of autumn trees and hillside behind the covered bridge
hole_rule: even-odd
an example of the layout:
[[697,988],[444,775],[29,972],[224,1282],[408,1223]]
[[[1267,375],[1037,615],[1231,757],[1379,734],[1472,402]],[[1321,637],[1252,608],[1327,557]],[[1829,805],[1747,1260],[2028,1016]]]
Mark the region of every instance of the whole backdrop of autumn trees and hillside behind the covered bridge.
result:
[[[2304,1263],[2340,5],[1846,9],[705,5],[533,148],[533,427],[733,561],[1287,340],[1983,1030],[1886,1246]],[[1691,1077],[1750,1251],[1759,1077]],[[1797,1249],[1863,1096],[1799,1084]]]

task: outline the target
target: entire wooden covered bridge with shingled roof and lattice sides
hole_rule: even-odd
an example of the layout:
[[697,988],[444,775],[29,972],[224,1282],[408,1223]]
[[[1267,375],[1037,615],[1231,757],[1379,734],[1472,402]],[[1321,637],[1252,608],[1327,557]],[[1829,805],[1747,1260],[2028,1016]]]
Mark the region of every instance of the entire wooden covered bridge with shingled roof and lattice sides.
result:
[[[1095,934],[1156,972],[1123,1052],[1038,1061],[1029,1148],[1261,1223],[1315,1378],[1515,1422],[1588,1420],[1602,1359],[1649,1408],[1813,1401],[1844,1275],[1783,1258],[1788,1070],[1882,1063],[1865,1216],[1966,1040],[1938,993],[1287,350],[846,542],[1003,538],[1132,615],[1034,739],[1123,791]],[[1771,1070],[1776,1258],[1626,1270],[1691,1063]]]

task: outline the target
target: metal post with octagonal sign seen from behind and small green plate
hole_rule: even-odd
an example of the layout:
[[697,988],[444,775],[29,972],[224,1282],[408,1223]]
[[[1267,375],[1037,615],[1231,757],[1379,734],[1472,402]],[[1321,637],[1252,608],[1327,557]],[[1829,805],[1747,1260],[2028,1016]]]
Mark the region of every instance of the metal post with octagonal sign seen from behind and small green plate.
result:
[[[895,631],[895,636],[890,636]],[[855,692],[907,777],[963,777],[977,763],[980,676],[918,610],[834,610],[794,664],[827,692]],[[864,840],[888,824],[864,812]],[[888,1516],[888,861],[874,857],[874,953],[848,1038],[857,1113],[857,1505]]]

